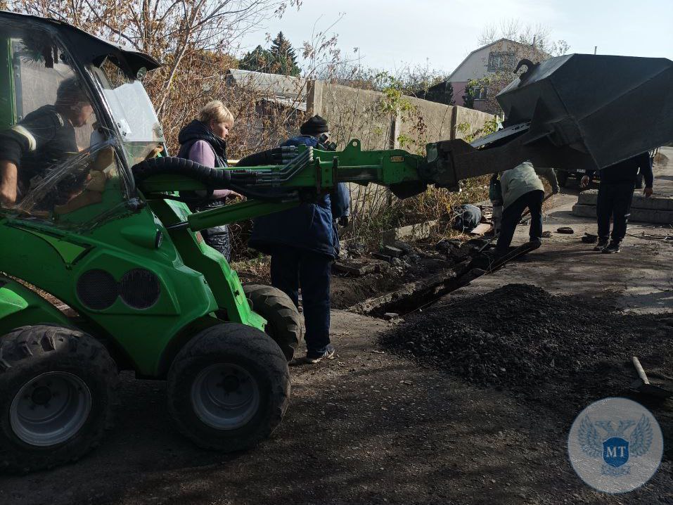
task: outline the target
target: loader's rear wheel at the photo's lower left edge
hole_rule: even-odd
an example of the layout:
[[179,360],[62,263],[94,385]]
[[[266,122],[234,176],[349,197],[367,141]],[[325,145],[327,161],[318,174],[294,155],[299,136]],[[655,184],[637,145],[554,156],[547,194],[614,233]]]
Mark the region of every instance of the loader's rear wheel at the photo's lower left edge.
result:
[[[115,362],[86,333],[35,325],[0,336],[0,471],[37,471],[84,456],[113,427],[119,386]],[[55,424],[41,423],[52,413]]]

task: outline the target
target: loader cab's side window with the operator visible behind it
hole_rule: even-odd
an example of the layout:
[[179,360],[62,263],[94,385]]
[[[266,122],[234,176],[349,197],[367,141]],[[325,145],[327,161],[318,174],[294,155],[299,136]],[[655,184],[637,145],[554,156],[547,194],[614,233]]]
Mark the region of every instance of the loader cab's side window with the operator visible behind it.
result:
[[117,139],[58,36],[0,23],[0,207],[67,228],[123,207]]

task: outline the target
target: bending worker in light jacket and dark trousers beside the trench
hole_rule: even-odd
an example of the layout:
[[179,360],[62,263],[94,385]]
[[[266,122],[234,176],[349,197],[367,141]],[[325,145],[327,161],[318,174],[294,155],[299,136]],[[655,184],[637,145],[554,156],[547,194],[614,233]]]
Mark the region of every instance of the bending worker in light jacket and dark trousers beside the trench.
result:
[[534,168],[530,161],[523,162],[500,176],[503,211],[496,253],[504,255],[512,243],[516,225],[528,207],[530,210],[530,240],[542,240],[542,200],[544,186],[538,177],[549,181],[553,194],[558,193],[558,181],[552,168]]

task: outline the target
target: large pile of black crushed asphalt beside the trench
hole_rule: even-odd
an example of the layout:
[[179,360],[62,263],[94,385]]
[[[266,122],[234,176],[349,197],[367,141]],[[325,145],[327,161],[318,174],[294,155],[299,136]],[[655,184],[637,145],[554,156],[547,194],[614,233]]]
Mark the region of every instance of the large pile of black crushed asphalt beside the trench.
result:
[[[549,402],[558,402],[563,390],[567,401],[582,403],[587,396],[620,392],[610,390],[610,381],[619,388],[624,374],[632,373],[624,357],[644,341],[653,346],[652,356],[667,354],[667,317],[622,314],[613,300],[508,284],[407,317],[380,344],[475,385],[530,396],[549,388]],[[581,386],[568,388],[573,382]]]

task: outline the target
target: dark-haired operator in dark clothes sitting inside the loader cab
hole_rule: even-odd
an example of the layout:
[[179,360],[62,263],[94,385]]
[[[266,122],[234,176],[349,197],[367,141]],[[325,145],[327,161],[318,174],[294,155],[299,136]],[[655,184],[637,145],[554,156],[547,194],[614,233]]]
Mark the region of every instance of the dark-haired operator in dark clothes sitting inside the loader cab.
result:
[[75,128],[84,126],[93,113],[86,92],[70,77],[58,85],[56,103],[0,132],[0,206],[18,203],[35,177],[79,153]]

